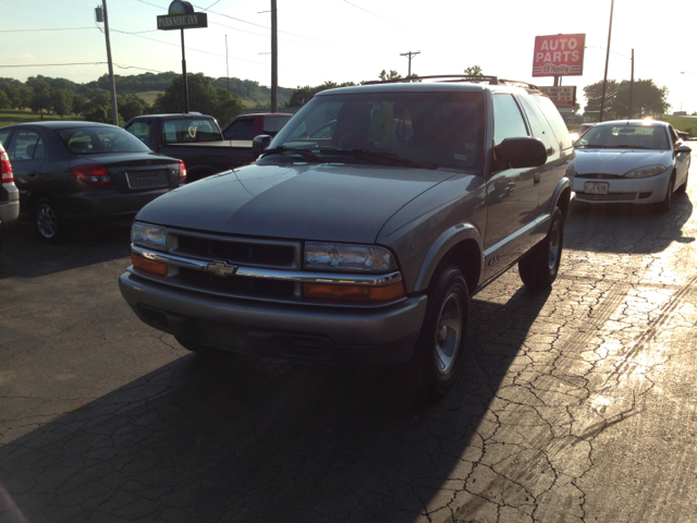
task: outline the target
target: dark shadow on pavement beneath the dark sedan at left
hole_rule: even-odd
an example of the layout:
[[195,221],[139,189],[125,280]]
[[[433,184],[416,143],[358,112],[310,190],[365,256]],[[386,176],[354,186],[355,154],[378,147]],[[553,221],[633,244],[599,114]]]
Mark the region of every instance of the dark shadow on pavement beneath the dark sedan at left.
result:
[[0,279],[35,278],[127,257],[131,222],[99,224],[68,231],[58,245],[42,243],[32,223],[2,228]]

